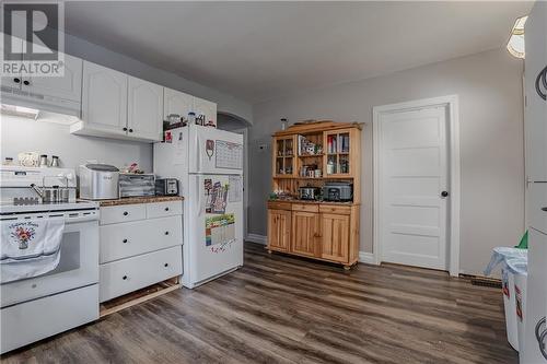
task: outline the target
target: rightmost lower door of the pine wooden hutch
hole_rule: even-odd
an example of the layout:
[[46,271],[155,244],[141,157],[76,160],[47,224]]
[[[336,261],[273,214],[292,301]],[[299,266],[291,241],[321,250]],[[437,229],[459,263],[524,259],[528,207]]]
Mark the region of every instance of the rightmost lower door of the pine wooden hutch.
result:
[[324,259],[347,262],[349,256],[350,216],[324,213],[321,218],[322,246]]

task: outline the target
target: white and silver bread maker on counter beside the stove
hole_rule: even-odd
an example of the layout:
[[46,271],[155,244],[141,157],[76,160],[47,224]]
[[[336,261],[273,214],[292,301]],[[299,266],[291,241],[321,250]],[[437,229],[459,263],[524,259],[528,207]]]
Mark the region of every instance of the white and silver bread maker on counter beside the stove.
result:
[[119,169],[108,164],[85,164],[79,168],[80,198],[110,200],[119,197]]

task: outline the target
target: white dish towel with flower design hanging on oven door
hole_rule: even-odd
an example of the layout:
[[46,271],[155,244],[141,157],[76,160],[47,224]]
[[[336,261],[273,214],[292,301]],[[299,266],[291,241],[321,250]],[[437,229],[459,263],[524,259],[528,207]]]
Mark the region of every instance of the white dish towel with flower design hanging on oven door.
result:
[[60,259],[65,219],[1,222],[0,283],[47,273]]

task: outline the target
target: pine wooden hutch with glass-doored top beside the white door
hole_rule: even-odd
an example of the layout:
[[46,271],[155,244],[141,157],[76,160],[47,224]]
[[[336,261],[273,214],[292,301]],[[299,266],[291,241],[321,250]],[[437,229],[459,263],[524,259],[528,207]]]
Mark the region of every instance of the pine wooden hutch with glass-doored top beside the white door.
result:
[[[314,121],[274,134],[268,251],[350,269],[359,258],[361,125]],[[353,185],[352,201],[300,200],[300,187]]]

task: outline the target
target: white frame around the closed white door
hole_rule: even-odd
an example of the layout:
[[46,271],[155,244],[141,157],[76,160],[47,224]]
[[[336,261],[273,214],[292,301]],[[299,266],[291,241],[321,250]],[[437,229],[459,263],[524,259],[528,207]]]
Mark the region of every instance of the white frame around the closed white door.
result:
[[382,150],[381,124],[380,116],[382,114],[391,114],[396,111],[408,111],[420,108],[430,107],[446,107],[449,118],[449,191],[450,191],[450,220],[447,223],[447,243],[449,243],[449,271],[450,275],[459,275],[459,207],[461,207],[461,186],[459,186],[459,102],[457,95],[449,95],[434,98],[417,99],[407,103],[391,104],[384,106],[375,106],[372,109],[373,120],[373,160],[374,160],[374,231],[373,231],[373,255],[374,262],[382,262],[382,186],[380,163],[380,151]]

